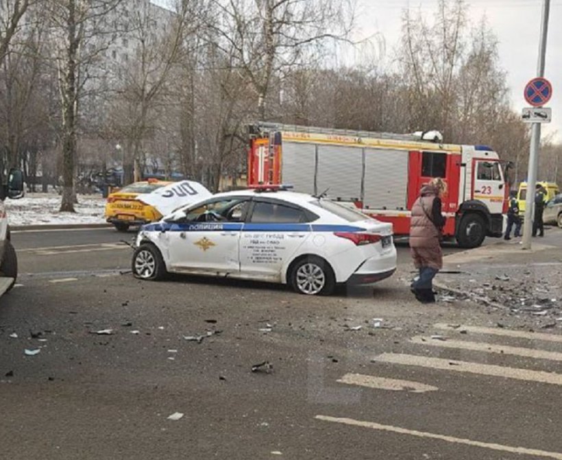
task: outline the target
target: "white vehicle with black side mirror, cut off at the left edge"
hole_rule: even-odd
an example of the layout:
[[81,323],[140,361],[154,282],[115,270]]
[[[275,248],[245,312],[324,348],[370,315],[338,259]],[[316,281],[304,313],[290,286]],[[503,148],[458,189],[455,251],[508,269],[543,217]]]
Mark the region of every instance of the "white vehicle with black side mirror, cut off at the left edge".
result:
[[8,183],[0,186],[0,295],[10,291],[18,276],[16,250],[10,241],[10,227],[4,199],[23,196],[23,174],[19,169],[10,169]]

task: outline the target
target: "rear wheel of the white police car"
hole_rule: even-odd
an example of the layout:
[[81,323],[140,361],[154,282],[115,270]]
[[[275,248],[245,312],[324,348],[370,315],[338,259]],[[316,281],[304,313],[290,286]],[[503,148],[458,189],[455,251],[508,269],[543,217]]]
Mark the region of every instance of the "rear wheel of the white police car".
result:
[[289,283],[300,294],[330,295],[336,287],[336,277],[323,258],[306,256],[291,267]]

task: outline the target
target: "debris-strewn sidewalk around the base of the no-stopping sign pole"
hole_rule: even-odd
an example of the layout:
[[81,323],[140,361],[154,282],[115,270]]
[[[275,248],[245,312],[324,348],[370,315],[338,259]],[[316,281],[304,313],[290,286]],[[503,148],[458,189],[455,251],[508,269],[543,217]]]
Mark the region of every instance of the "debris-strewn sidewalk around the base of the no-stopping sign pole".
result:
[[501,239],[445,256],[435,286],[455,299],[533,317],[543,328],[562,327],[562,229],[547,228],[531,250],[522,250],[520,241]]

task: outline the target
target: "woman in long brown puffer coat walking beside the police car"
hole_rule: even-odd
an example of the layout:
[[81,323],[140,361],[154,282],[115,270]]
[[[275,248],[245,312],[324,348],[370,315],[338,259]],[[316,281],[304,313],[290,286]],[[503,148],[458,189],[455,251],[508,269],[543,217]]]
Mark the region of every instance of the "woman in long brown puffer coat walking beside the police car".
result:
[[412,206],[410,251],[419,276],[411,288],[415,298],[422,303],[435,302],[433,278],[443,267],[440,242],[445,217],[441,215],[441,196],[446,192],[446,182],[435,178],[422,187]]

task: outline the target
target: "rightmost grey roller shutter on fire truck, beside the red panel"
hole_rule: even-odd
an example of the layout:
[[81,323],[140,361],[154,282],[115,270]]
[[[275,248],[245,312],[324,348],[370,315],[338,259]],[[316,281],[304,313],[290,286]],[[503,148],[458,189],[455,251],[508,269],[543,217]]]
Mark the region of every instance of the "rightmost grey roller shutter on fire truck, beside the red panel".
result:
[[365,149],[365,206],[371,209],[406,209],[408,152]]

